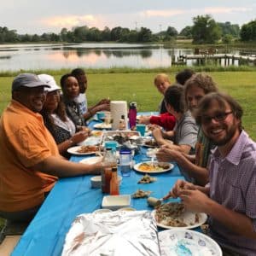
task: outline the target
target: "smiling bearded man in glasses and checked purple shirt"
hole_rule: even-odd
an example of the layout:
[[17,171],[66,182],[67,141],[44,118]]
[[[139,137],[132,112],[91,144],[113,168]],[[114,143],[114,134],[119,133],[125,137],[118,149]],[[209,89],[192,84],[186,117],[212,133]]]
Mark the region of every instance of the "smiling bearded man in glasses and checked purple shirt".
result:
[[170,195],[191,211],[209,215],[209,234],[224,255],[256,254],[256,143],[241,128],[241,106],[230,96],[211,93],[195,119],[214,148],[206,187],[178,180]]

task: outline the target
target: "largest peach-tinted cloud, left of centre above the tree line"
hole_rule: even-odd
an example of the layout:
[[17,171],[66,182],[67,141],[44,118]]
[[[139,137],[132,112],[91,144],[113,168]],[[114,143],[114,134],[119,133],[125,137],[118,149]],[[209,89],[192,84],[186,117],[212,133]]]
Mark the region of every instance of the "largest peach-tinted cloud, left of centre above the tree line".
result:
[[87,26],[96,26],[97,19],[94,15],[66,15],[40,20],[40,23],[46,26],[71,28],[73,26],[84,26],[84,24]]

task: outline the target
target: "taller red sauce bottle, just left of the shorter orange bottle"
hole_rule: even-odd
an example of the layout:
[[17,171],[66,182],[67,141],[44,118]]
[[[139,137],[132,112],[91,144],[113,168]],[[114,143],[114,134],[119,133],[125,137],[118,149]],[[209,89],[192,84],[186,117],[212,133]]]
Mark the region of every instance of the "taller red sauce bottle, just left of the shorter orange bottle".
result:
[[113,154],[112,148],[106,148],[106,153],[104,155],[102,169],[102,192],[110,192],[110,180],[112,177],[112,167],[117,166],[116,157]]

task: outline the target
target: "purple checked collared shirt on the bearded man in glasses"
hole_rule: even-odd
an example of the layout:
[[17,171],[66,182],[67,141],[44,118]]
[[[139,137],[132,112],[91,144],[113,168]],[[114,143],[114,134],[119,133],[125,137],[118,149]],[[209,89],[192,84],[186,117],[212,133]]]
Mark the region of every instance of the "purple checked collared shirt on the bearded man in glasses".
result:
[[[241,131],[225,158],[221,158],[218,148],[213,150],[209,172],[212,200],[247,215],[256,231],[256,143]],[[212,238],[221,246],[242,255],[256,255],[256,241],[234,234],[211,217],[208,223]]]

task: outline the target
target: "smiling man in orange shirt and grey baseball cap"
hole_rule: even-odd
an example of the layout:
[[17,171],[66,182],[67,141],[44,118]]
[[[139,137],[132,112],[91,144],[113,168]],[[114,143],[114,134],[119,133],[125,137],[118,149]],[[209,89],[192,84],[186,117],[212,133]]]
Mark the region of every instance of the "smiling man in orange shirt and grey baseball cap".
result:
[[12,100],[0,120],[0,216],[29,221],[58,177],[99,173],[102,164],[87,166],[64,160],[44,126],[41,111],[48,84],[21,73],[12,84]]

